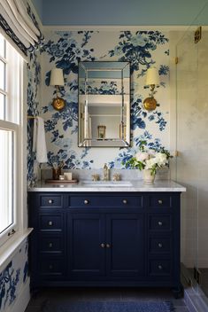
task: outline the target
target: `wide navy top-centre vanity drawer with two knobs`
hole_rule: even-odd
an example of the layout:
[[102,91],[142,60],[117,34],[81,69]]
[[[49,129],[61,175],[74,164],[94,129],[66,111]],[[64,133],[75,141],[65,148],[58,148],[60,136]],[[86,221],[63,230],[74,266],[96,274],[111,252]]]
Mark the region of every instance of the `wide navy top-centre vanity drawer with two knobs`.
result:
[[69,207],[143,207],[143,196],[71,196]]

